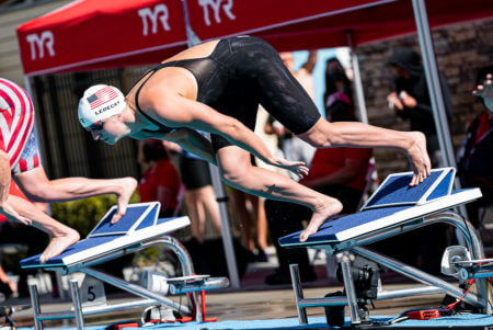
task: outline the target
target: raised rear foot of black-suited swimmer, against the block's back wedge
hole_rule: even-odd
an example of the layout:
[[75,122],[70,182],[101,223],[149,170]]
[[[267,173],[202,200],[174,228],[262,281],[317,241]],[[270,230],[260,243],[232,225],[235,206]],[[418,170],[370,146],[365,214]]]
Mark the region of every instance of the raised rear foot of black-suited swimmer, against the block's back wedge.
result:
[[413,166],[414,175],[409,185],[414,186],[423,182],[429,175],[432,163],[426,151],[426,137],[421,132],[410,132],[413,143],[406,152]]

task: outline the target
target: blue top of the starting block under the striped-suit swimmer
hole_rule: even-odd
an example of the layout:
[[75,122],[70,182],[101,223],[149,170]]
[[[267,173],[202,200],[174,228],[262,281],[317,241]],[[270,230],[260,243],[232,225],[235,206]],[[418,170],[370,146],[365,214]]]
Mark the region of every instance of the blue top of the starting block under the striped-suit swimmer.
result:
[[117,206],[112,206],[88,237],[68,247],[61,254],[39,263],[41,254],[21,260],[23,269],[70,268],[104,258],[142,241],[161,237],[190,225],[188,217],[158,218],[159,202],[129,204],[125,216],[111,224]]

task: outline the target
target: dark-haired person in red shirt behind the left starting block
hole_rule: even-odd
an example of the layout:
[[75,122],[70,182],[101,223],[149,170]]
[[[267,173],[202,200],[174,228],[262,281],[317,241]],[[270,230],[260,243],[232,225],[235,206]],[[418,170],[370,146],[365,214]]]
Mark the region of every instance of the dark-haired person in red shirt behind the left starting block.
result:
[[145,140],[140,161],[148,166],[139,182],[140,202],[158,201],[161,203],[159,216],[171,217],[179,202],[180,175],[162,141]]

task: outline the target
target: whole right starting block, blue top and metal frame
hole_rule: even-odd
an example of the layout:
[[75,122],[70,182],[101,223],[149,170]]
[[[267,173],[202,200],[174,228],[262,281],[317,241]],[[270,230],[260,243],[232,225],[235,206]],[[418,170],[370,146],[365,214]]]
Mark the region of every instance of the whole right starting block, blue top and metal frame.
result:
[[[282,237],[279,244],[285,248],[316,248],[324,249],[329,254],[339,254],[341,262],[345,296],[305,299],[299,280],[297,265],[290,265],[293,287],[300,325],[307,325],[307,307],[323,306],[332,308],[348,305],[353,326],[370,323],[365,304],[370,299],[386,299],[422,294],[447,293],[456,298],[463,295],[463,291],[448,282],[427,274],[419,269],[406,265],[398,260],[376,253],[364,246],[397,236],[431,224],[445,223],[454,226],[463,237],[467,248],[474,260],[484,258],[483,247],[474,228],[459,215],[448,212],[458,205],[472,202],[481,197],[479,189],[452,191],[455,179],[454,168],[432,170],[432,173],[417,186],[409,186],[412,172],[389,175],[378,190],[368,198],[358,213],[328,219],[318,232],[310,236],[306,242],[299,241],[301,231]],[[371,283],[372,273],[378,271],[364,269],[355,273],[352,265],[354,254],[383,265],[397,273],[425,284],[406,291],[376,291]],[[359,274],[368,276],[368,285],[375,288],[375,296],[364,297],[355,286],[354,277]],[[356,274],[356,275],[355,275]],[[489,303],[491,287],[488,278],[475,282],[477,294],[468,293],[463,300],[478,307],[481,311],[492,314]],[[369,287],[368,287],[369,292]],[[341,310],[341,309],[340,309]],[[343,310],[343,309],[342,309]],[[328,314],[328,321],[330,322]],[[334,323],[335,325],[335,323]]]

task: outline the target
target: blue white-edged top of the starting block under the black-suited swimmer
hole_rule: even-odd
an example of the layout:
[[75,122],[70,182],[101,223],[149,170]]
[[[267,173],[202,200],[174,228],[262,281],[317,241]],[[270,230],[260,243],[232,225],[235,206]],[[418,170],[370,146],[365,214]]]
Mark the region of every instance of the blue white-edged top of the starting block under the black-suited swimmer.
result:
[[339,244],[481,197],[479,189],[452,191],[454,168],[432,170],[431,175],[416,186],[409,186],[412,175],[412,172],[389,175],[358,213],[334,220],[329,218],[306,242],[299,241],[301,231],[298,231],[279,238],[279,244],[307,248]]

